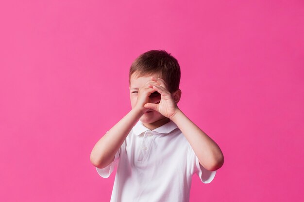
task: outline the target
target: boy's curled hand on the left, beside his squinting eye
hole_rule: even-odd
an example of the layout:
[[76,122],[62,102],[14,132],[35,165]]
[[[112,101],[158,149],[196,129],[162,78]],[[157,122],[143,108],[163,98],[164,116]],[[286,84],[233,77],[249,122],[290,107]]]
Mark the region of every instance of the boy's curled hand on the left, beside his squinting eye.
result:
[[[138,89],[138,93],[137,93],[137,101],[136,101],[136,104],[135,104],[135,107],[136,109],[139,109],[142,113],[145,113],[146,111],[149,111],[151,109],[149,108],[145,108],[144,105],[146,103],[149,102],[149,99],[152,101],[150,102],[153,102],[153,103],[157,103],[160,101],[160,94],[158,92],[156,92],[156,89],[153,89],[151,88],[152,85],[155,84],[155,85],[159,85],[156,81],[153,81],[152,79],[147,81],[147,83],[145,83],[141,88]],[[152,93],[155,95],[153,95],[152,97],[149,97]]]

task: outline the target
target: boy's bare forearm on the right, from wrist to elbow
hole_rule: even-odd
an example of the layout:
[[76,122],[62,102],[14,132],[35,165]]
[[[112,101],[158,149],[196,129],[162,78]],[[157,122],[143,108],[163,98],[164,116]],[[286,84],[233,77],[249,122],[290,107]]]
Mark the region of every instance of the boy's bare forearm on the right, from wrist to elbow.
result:
[[171,120],[182,131],[205,169],[215,171],[222,166],[224,158],[220,147],[180,109],[177,109]]

